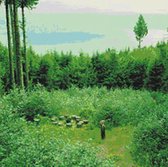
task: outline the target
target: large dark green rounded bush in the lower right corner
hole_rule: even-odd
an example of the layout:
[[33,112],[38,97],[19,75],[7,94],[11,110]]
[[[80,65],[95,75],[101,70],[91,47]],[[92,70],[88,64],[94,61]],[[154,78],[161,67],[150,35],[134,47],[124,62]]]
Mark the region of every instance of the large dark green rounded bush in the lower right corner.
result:
[[134,133],[132,156],[137,164],[149,167],[168,166],[168,112],[159,112],[142,122]]

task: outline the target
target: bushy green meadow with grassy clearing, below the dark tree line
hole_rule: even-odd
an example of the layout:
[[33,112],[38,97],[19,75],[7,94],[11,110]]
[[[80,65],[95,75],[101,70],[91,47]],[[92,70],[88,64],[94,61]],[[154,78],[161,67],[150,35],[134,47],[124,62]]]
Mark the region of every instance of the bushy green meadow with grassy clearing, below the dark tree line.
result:
[[[0,164],[166,167],[167,100],[159,92],[105,87],[13,90],[0,101]],[[81,128],[53,123],[65,115],[89,123]]]

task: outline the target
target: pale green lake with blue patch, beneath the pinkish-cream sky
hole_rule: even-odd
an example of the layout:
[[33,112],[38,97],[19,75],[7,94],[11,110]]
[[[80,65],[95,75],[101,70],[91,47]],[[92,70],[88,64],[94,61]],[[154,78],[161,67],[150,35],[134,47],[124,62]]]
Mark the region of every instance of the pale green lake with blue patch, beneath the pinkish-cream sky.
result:
[[[1,11],[2,12],[2,11]],[[137,47],[133,28],[138,14],[35,13],[27,14],[28,44],[38,53],[81,51],[93,53],[107,48]],[[0,14],[3,16],[3,14]],[[166,40],[168,14],[143,15],[149,33],[143,46]],[[6,43],[5,21],[0,18],[0,41]]]

